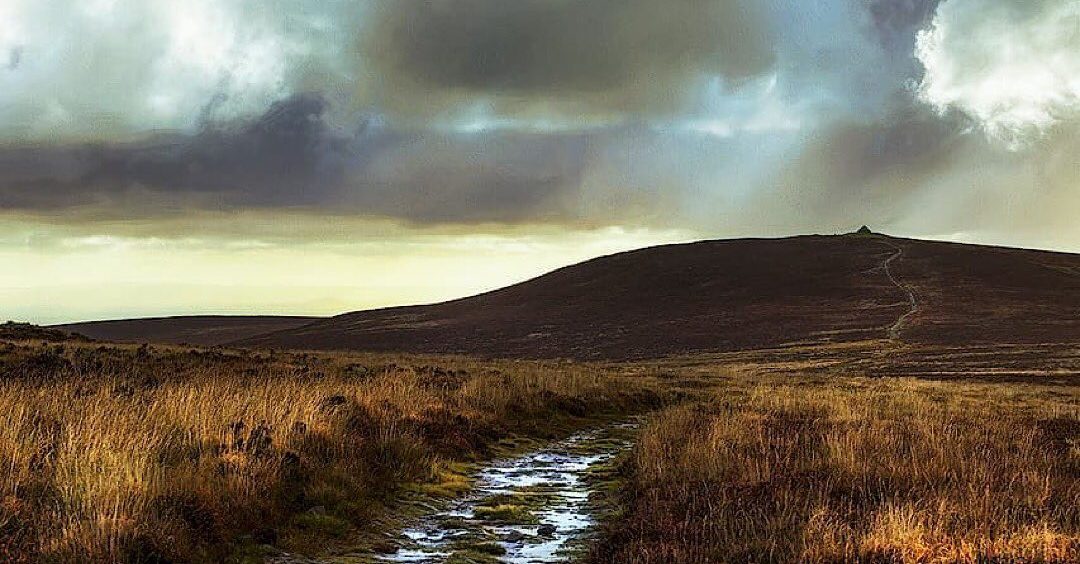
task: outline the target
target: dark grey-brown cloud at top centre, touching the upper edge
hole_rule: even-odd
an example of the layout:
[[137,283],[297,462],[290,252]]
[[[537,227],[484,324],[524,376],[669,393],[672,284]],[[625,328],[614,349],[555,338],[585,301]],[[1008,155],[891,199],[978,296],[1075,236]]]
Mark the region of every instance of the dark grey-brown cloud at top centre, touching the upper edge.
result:
[[361,45],[378,102],[421,115],[467,98],[511,113],[665,113],[703,76],[739,80],[773,61],[748,0],[394,0],[376,4]]

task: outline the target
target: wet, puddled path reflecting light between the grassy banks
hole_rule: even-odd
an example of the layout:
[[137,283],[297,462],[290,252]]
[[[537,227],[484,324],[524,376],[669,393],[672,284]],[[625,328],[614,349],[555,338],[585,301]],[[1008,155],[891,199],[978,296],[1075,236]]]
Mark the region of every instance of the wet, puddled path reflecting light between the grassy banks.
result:
[[382,562],[566,562],[596,524],[586,476],[632,444],[636,424],[581,432],[478,470],[467,497],[402,532]]

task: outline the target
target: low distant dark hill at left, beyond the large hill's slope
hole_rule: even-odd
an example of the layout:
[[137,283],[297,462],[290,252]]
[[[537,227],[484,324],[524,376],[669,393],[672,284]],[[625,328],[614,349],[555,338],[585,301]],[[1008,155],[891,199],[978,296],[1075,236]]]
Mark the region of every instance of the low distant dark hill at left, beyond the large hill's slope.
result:
[[224,345],[275,331],[299,327],[319,318],[273,315],[192,315],[55,325],[55,328],[114,343]]

